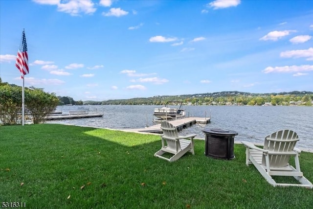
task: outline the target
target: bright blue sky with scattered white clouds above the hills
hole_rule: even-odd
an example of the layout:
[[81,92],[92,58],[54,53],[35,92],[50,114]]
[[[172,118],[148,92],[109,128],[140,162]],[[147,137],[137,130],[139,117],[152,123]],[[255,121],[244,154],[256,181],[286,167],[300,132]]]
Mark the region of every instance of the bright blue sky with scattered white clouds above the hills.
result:
[[0,0],[0,77],[74,100],[313,91],[313,0]]

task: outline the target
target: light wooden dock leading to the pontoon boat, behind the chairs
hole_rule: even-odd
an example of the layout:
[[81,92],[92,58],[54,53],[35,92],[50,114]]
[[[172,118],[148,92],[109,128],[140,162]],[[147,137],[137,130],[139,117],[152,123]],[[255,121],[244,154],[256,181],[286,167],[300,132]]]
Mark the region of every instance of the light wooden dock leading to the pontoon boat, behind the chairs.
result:
[[[185,117],[177,120],[168,120],[169,123],[174,125],[177,130],[181,130],[183,128],[187,128],[192,126],[196,123],[209,123],[211,118],[207,117]],[[144,133],[155,133],[155,134],[162,134],[161,124],[152,125],[145,128],[139,129],[123,129],[122,131],[130,131],[130,132],[144,132]]]

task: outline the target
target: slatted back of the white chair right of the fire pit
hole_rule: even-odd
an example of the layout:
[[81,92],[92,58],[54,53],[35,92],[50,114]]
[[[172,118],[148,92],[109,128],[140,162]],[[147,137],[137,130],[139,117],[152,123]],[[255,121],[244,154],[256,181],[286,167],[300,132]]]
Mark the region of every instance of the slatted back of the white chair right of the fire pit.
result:
[[[281,130],[268,135],[264,141],[264,148],[268,151],[279,152],[279,154],[269,155],[271,167],[284,167],[288,165],[291,155],[284,155],[284,152],[292,151],[298,135],[291,130]],[[262,165],[266,165],[265,156],[262,158]]]

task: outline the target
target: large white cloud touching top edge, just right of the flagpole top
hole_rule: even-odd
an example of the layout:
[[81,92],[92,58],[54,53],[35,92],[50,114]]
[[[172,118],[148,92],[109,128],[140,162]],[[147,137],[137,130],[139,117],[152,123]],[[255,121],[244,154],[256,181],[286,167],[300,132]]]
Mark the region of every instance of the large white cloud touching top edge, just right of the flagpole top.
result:
[[80,13],[92,14],[97,9],[94,8],[94,3],[91,0],[33,0],[39,4],[57,5],[59,12],[65,12],[71,16],[78,16]]

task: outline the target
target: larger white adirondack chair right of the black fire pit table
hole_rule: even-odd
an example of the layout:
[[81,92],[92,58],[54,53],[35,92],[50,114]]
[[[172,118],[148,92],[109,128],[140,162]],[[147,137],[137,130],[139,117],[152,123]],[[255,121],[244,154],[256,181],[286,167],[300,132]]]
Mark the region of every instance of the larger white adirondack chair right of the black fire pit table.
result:
[[[272,186],[313,188],[312,183],[300,170],[301,151],[294,147],[298,140],[298,135],[294,131],[281,130],[265,138],[263,149],[250,142],[242,141],[246,146],[246,165],[253,164]],[[289,164],[291,156],[294,156],[295,168]],[[293,176],[300,184],[276,183],[271,176]]]

